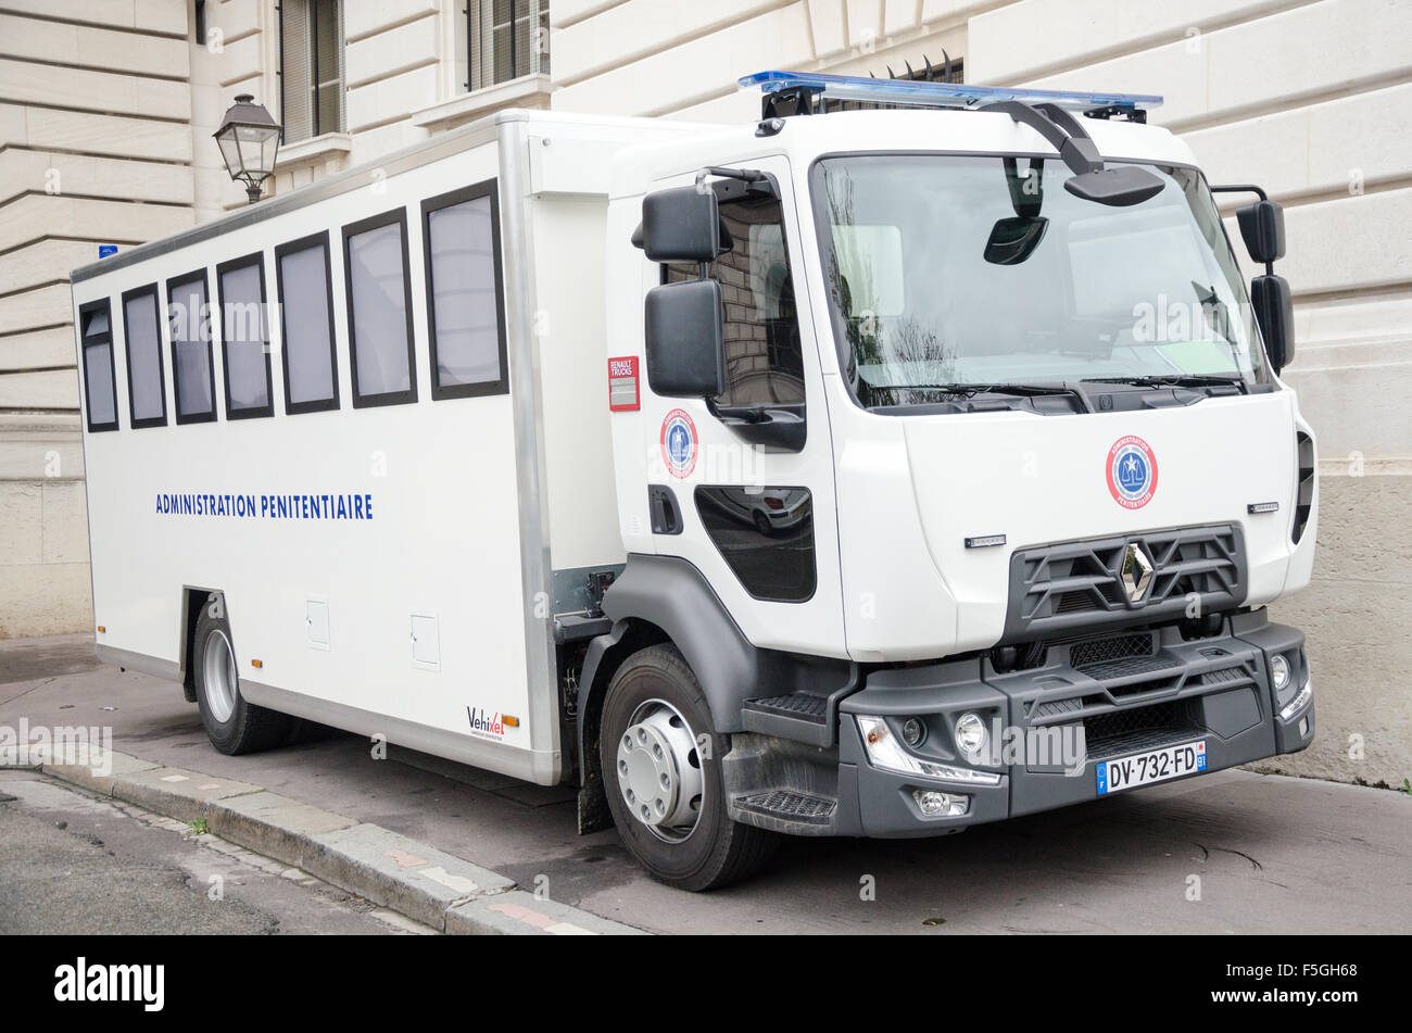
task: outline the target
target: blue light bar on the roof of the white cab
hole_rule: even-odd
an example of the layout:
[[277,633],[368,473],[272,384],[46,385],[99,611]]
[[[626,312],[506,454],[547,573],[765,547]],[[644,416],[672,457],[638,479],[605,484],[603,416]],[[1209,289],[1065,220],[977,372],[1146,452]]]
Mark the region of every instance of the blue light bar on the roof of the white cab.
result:
[[971,86],[950,82],[911,79],[864,79],[854,75],[822,72],[755,72],[740,78],[740,89],[758,87],[764,93],[803,89],[830,100],[907,107],[977,107],[997,100],[1025,104],[1055,104],[1070,110],[1115,109],[1141,111],[1158,107],[1162,97],[1148,93],[1079,93],[1073,90],[1032,90],[1008,86]]

